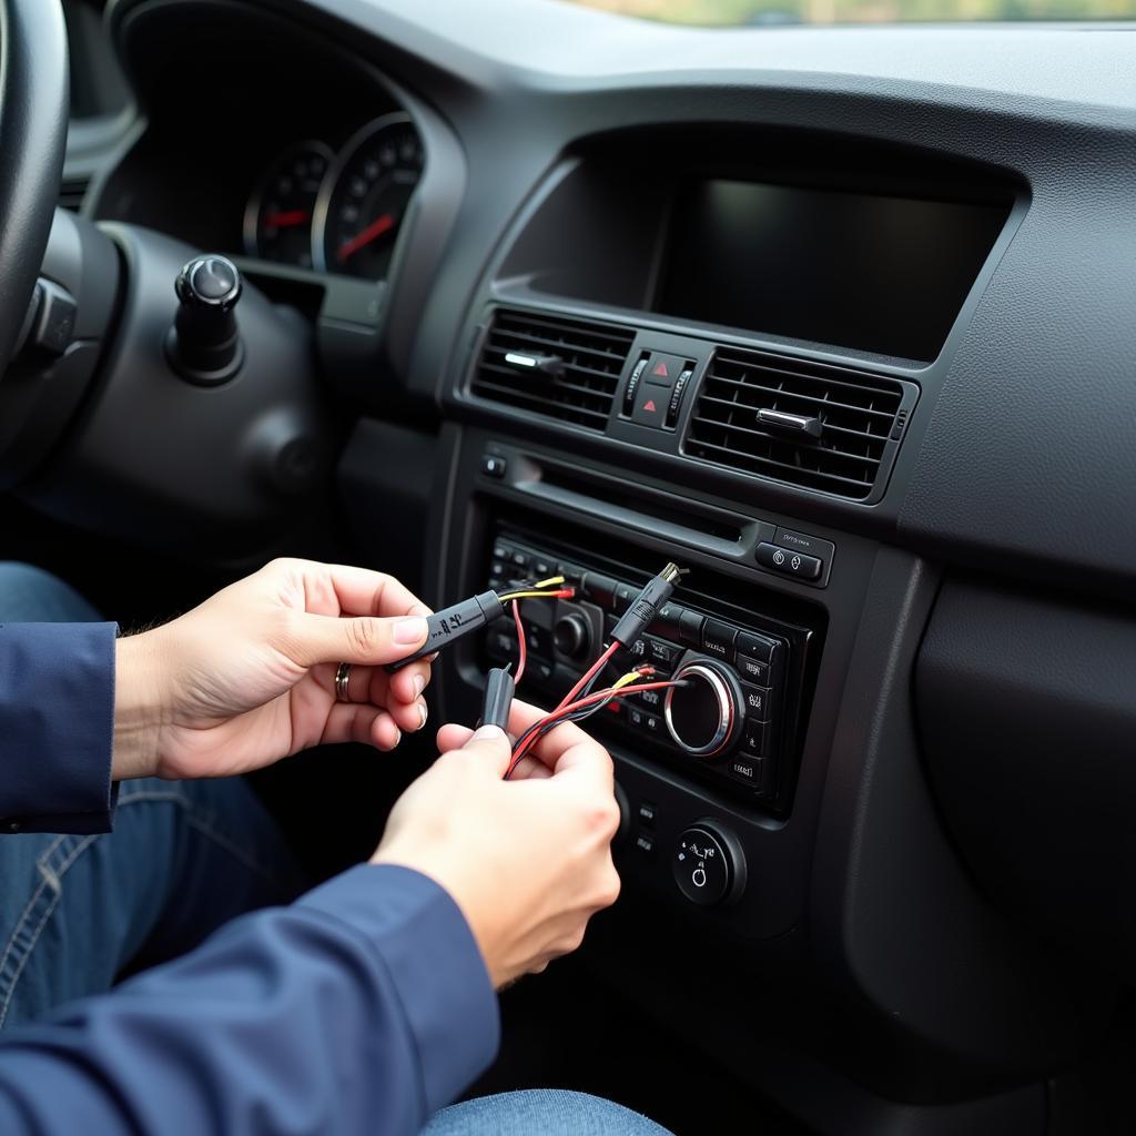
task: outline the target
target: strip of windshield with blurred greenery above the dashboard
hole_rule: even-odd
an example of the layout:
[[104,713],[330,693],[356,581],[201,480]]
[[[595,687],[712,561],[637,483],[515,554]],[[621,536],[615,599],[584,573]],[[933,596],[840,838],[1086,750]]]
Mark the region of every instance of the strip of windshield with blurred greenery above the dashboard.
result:
[[1133,19],[1136,0],[566,0],[625,16],[744,27],[970,20]]

